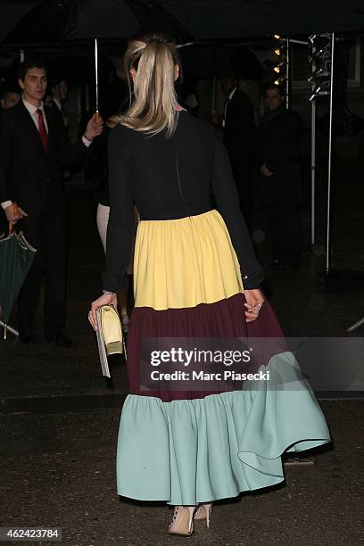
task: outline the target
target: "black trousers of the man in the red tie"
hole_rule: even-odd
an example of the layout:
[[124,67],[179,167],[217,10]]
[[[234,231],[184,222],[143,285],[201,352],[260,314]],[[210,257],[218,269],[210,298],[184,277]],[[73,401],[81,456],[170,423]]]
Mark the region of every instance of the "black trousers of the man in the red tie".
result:
[[[49,209],[50,211],[50,209]],[[66,322],[67,230],[66,215],[45,212],[22,219],[22,229],[37,253],[18,299],[18,327],[31,328],[37,310],[40,288],[45,277],[45,335],[54,335]]]

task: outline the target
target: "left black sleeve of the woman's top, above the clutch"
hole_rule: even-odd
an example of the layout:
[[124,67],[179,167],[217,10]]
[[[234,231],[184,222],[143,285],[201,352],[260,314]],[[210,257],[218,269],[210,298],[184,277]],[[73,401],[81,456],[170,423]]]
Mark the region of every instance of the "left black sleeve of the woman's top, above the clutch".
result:
[[125,274],[134,236],[134,198],[128,138],[121,126],[113,128],[108,142],[110,216],[106,234],[106,270],[103,289],[118,292]]

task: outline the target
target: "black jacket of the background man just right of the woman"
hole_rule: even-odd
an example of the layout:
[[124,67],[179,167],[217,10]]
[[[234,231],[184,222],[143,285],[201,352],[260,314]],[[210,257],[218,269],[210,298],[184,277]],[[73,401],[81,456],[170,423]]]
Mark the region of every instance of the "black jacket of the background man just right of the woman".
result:
[[254,108],[252,101],[244,91],[236,89],[233,98],[227,104],[227,117],[224,128],[224,145],[230,159],[243,161],[252,157],[256,146]]

